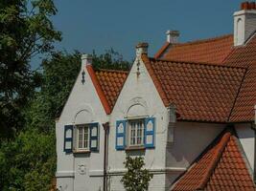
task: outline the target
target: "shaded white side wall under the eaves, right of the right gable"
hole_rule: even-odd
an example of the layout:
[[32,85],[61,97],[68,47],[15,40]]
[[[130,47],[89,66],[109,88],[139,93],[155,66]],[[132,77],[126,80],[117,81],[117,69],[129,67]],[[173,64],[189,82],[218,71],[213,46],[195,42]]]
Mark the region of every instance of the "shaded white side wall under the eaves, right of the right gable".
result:
[[167,147],[166,165],[187,168],[224,127],[224,124],[177,122],[174,143]]

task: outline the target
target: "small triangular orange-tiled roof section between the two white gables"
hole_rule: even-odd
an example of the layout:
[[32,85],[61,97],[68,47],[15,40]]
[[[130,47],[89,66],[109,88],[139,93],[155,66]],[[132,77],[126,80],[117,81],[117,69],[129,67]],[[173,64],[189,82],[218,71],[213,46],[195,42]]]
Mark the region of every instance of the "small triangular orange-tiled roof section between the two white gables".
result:
[[117,70],[99,70],[96,71],[96,76],[104,92],[105,98],[112,110],[117,97],[119,96],[122,87],[127,79],[127,71]]

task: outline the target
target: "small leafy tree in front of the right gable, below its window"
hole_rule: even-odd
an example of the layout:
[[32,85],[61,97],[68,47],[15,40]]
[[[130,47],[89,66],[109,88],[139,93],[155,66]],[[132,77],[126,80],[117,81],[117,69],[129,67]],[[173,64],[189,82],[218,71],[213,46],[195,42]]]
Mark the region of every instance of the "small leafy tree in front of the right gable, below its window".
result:
[[121,182],[127,191],[146,191],[149,188],[152,174],[149,170],[143,169],[145,162],[141,157],[134,159],[127,157],[124,162],[128,171],[122,178]]

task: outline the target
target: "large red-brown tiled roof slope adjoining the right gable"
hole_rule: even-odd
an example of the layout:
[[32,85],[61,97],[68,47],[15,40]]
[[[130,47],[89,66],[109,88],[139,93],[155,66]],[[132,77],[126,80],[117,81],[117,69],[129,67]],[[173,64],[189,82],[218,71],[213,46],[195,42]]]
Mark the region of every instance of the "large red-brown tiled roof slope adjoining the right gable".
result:
[[245,69],[210,64],[142,59],[165,106],[174,103],[180,119],[226,122]]

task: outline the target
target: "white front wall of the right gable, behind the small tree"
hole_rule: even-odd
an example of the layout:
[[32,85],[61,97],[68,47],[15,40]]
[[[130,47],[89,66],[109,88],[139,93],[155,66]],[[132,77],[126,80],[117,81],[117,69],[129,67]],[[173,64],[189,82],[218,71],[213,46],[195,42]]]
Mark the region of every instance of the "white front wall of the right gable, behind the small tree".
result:
[[[139,76],[136,73],[138,60],[140,61]],[[140,107],[137,107],[138,105]],[[155,117],[155,148],[145,151],[117,151],[115,149],[116,120],[126,119],[128,116],[134,115]],[[167,128],[167,109],[156,91],[144,63],[140,58],[137,58],[110,117],[108,172],[117,174],[110,177],[110,190],[124,190],[120,183],[120,175],[125,171],[123,162],[127,155],[145,158],[145,167],[154,174],[150,183],[150,190],[165,190],[165,173],[163,172],[166,170]],[[162,173],[159,174],[161,171]]]

